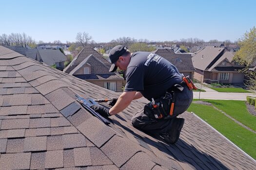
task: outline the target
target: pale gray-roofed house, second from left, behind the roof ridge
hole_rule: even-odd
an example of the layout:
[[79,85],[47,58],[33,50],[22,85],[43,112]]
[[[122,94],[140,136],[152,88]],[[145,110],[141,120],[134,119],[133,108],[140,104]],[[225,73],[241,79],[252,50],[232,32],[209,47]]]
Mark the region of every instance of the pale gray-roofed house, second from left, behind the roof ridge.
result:
[[64,62],[67,60],[67,57],[60,52],[59,50],[39,50],[37,61],[44,62],[48,66],[56,65],[57,69],[63,70]]

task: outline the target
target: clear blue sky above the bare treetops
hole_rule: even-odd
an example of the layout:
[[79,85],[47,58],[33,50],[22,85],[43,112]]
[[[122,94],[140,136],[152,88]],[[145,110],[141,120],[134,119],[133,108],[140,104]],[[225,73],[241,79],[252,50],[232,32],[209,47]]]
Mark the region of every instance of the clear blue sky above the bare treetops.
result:
[[231,41],[256,26],[256,0],[1,0],[0,34],[36,41],[96,42],[122,36],[155,41],[197,37]]

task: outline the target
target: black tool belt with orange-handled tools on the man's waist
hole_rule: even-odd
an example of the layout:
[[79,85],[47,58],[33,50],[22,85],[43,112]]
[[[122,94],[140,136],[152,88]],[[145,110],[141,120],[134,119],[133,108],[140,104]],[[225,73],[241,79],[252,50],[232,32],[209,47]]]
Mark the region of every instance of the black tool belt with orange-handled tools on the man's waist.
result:
[[187,86],[189,90],[197,89],[189,76],[183,76],[180,84],[175,84],[167,90],[164,97],[158,99],[152,98],[152,101],[145,105],[144,113],[151,119],[171,119],[176,117],[174,114],[175,92],[183,91]]

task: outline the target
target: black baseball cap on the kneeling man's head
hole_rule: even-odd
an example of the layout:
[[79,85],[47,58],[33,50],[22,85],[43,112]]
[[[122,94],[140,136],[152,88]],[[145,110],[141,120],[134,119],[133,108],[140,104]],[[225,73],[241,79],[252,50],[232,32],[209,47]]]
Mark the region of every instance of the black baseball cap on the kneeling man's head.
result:
[[109,52],[109,60],[111,62],[111,67],[109,69],[109,72],[114,72],[117,70],[117,66],[116,63],[119,59],[119,57],[124,54],[124,52],[127,50],[127,47],[122,46],[122,45],[118,45],[115,46],[113,49],[111,49],[111,51]]

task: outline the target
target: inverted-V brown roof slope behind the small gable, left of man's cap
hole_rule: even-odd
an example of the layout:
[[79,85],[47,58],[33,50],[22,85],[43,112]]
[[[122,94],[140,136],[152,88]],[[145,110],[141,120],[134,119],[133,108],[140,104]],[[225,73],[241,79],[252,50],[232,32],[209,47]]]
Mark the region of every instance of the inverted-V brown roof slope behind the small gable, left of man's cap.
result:
[[104,63],[107,67],[110,68],[111,64],[102,57],[100,53],[95,51],[91,46],[85,46],[74,58],[74,60],[66,67],[63,69],[64,72],[70,73],[74,68],[76,68],[86,57],[89,55],[93,54],[99,61]]

